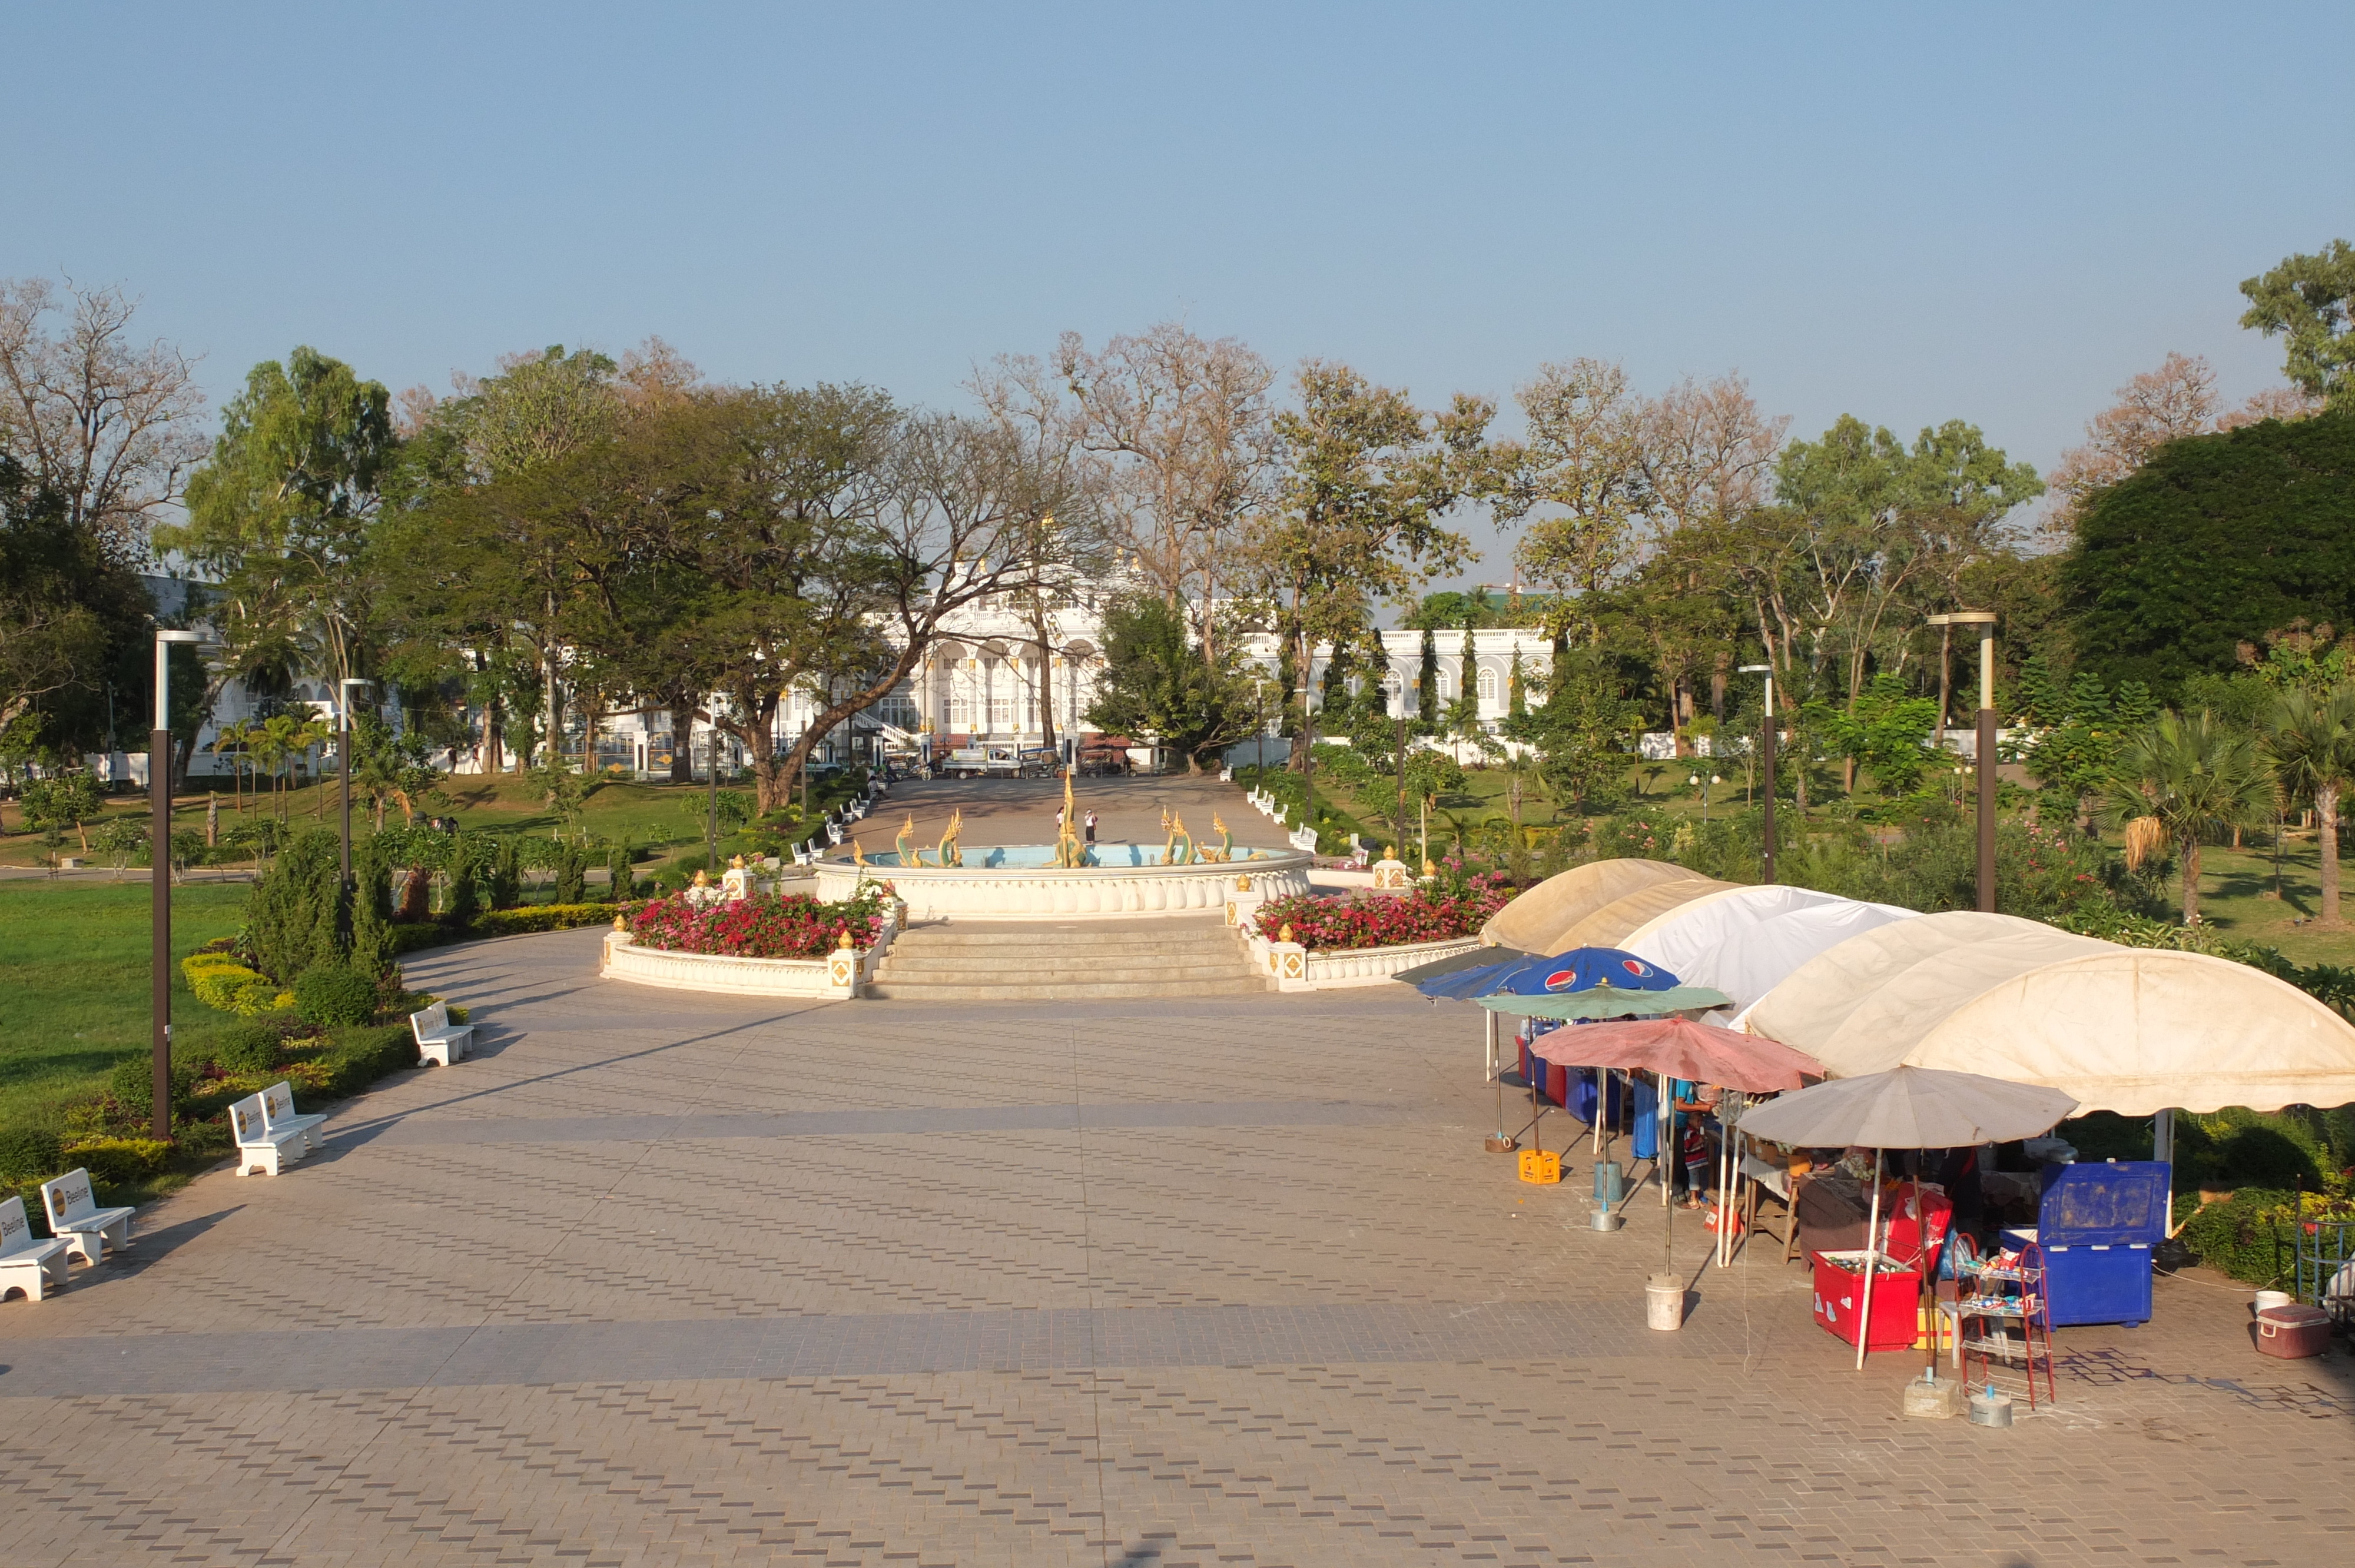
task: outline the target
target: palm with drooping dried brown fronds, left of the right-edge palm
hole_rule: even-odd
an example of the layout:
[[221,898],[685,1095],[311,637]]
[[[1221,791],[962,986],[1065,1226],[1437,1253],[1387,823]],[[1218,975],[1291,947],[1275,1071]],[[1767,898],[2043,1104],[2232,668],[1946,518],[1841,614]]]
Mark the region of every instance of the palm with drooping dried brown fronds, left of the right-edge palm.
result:
[[2183,857],[2183,923],[2200,923],[2200,836],[2251,822],[2273,803],[2256,735],[2209,711],[2160,713],[2127,739],[2105,789],[2105,815],[2127,829],[2127,864],[2174,848]]

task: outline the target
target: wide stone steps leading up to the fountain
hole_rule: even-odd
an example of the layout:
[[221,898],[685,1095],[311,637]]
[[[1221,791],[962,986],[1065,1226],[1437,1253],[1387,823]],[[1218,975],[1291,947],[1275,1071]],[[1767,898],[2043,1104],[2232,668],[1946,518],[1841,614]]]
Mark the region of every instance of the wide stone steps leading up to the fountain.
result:
[[902,932],[867,986],[890,1001],[1265,996],[1225,921],[966,921]]

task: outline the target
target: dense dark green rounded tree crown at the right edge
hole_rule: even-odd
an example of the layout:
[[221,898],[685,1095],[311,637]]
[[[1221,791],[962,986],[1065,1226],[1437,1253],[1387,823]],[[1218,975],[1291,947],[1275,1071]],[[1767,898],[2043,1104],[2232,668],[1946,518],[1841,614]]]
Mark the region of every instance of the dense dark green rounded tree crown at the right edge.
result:
[[2094,494],[2061,596],[2079,664],[2162,697],[2306,619],[2355,624],[2355,414],[2160,447]]

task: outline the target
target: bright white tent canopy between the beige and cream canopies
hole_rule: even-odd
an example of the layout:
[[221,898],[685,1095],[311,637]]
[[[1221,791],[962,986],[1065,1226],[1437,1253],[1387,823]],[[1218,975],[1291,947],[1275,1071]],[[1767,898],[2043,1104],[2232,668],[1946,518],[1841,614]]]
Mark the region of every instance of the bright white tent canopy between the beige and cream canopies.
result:
[[1689,986],[1712,986],[1736,1008],[1747,1008],[1816,954],[1891,921],[1917,918],[1917,911],[1896,904],[1769,883],[1703,892],[1634,928],[1618,946]]

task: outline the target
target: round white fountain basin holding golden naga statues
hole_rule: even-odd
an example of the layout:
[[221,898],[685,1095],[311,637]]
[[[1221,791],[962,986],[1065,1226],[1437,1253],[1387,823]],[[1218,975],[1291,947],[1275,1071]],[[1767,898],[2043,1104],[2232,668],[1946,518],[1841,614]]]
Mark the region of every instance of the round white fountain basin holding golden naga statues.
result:
[[902,866],[897,855],[848,857],[812,869],[820,899],[848,899],[862,881],[885,881],[914,921],[1048,921],[1055,916],[1152,918],[1218,913],[1236,878],[1281,899],[1309,890],[1309,857],[1298,850],[1236,850],[1232,862],[1163,866],[1161,845],[1100,843],[1109,864],[1057,869],[1055,845],[968,845],[963,866]]

